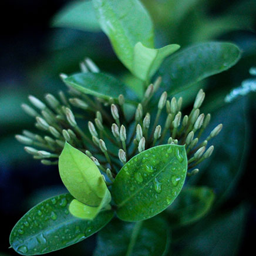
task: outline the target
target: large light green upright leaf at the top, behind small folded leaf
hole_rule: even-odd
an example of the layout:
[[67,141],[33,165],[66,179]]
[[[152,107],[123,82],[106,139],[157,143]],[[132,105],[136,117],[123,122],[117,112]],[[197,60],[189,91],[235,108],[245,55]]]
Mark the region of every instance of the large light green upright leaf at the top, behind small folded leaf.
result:
[[154,47],[153,24],[139,0],[93,0],[102,30],[109,37],[117,57],[129,70],[136,43]]

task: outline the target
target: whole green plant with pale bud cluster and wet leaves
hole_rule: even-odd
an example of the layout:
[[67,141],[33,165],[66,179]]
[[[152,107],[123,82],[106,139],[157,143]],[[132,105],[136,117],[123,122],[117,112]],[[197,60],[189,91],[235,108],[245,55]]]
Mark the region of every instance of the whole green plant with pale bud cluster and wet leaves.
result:
[[[46,103],[29,96],[32,106],[22,107],[35,117],[41,134],[25,130],[16,139],[43,164],[59,165],[69,193],[28,211],[12,230],[11,247],[22,255],[45,254],[108,224],[100,231],[95,255],[164,255],[170,242],[166,216],[176,225],[193,222],[214,201],[211,188],[186,186],[186,181],[211,156],[209,142],[222,128],[218,124],[204,133],[211,116],[200,112],[203,90],[187,114],[181,113],[183,98],[176,95],[233,66],[240,50],[223,42],[175,54],[178,45],[155,49],[153,25],[139,1],[92,4],[117,57],[140,80],[133,87],[142,85],[143,95],[86,59],[80,73],[60,75],[69,96],[48,94]],[[188,213],[170,208],[194,198],[206,203]],[[111,235],[120,231],[114,248]],[[113,243],[114,252],[105,250],[106,243]]]

